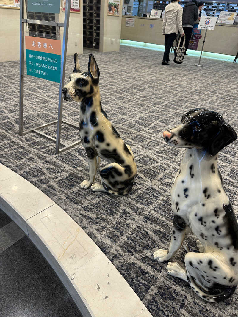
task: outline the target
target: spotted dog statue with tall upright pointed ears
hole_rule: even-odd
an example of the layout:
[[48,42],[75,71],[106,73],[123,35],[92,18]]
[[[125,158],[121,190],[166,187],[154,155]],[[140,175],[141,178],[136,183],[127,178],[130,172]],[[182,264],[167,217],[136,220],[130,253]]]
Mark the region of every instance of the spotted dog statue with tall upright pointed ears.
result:
[[[136,163],[130,146],[126,145],[102,109],[99,92],[99,68],[93,54],[89,54],[88,72],[80,70],[78,55],[70,82],[62,89],[63,99],[80,102],[79,136],[89,163],[89,180],[81,188],[125,195],[133,186]],[[100,171],[102,184],[93,184],[100,158],[109,162]]]

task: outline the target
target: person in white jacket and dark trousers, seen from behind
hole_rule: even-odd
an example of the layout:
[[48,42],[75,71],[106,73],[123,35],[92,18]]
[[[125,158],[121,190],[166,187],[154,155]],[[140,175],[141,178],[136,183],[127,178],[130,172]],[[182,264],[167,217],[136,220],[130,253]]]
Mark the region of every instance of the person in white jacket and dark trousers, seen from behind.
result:
[[179,4],[179,0],[171,0],[165,7],[164,19],[162,24],[162,34],[165,35],[164,40],[164,56],[162,65],[169,65],[169,51],[173,45],[178,31],[184,36],[182,28],[183,8]]

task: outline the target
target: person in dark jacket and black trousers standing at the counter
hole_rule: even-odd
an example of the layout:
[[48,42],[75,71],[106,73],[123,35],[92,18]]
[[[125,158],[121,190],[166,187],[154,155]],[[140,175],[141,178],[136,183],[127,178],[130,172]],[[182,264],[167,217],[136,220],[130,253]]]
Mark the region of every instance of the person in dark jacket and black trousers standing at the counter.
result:
[[[193,26],[195,21],[198,18],[198,8],[197,8],[197,0],[192,0],[185,4],[183,8],[183,17],[182,17],[182,27],[185,33],[185,54],[187,54],[188,43],[192,34]],[[183,45],[183,41],[181,41],[180,46]]]

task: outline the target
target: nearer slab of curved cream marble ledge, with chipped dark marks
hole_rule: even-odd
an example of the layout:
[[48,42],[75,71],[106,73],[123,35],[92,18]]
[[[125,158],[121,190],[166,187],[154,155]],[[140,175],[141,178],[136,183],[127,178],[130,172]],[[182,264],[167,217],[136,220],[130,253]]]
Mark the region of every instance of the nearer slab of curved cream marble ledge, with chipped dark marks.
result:
[[47,253],[84,316],[151,316],[109,259],[58,205],[27,220],[27,226],[30,239]]

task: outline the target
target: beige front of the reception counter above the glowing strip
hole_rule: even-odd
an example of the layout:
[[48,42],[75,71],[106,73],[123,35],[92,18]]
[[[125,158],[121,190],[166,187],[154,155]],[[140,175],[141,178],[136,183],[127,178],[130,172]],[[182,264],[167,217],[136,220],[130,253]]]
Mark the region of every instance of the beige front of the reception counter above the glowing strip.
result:
[[[127,18],[134,19],[134,26],[126,26]],[[121,39],[164,45],[162,23],[162,19],[122,16]],[[201,35],[197,50],[202,49],[205,30]],[[203,51],[235,56],[238,51],[238,25],[216,24],[213,31],[207,31]]]

